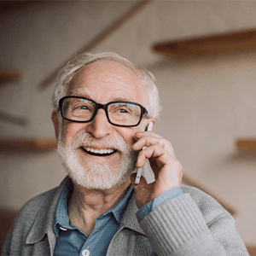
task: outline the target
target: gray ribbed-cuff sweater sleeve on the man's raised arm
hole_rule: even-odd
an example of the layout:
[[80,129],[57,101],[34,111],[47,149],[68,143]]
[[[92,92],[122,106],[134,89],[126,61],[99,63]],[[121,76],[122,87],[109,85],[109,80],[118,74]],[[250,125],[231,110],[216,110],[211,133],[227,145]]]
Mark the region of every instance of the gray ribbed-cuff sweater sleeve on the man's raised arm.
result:
[[214,214],[208,214],[184,193],[143,218],[140,225],[154,251],[158,255],[180,256],[248,255],[234,219],[217,201],[211,201]]

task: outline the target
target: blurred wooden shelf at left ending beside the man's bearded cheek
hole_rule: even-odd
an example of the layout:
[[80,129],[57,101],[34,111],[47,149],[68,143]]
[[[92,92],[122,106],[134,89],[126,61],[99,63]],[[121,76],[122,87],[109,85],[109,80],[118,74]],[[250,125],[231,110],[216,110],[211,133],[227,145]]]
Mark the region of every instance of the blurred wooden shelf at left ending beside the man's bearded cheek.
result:
[[17,151],[46,151],[57,148],[55,138],[15,138],[0,139],[0,152],[17,152]]

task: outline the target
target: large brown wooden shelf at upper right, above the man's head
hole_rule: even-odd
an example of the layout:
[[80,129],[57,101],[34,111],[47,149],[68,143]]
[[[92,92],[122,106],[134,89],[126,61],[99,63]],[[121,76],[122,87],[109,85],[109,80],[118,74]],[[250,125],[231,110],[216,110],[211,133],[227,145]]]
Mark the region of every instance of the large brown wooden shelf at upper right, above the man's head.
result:
[[256,30],[185,38],[153,45],[155,52],[172,57],[224,54],[248,49],[256,49]]

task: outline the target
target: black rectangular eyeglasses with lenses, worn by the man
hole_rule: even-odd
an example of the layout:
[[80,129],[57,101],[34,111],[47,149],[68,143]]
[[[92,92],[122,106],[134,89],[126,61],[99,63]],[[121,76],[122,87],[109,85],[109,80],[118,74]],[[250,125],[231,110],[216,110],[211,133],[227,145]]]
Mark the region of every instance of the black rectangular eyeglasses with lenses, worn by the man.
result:
[[108,102],[100,104],[79,96],[65,96],[59,101],[63,119],[78,123],[90,122],[99,108],[103,108],[111,125],[132,127],[140,124],[143,114],[147,118],[148,111],[135,102]]

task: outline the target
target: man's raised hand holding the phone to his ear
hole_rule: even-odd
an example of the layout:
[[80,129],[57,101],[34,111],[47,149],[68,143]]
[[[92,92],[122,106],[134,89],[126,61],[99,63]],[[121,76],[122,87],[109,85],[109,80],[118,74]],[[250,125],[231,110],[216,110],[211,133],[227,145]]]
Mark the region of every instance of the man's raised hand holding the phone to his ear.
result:
[[183,177],[182,166],[176,159],[172,144],[163,137],[150,131],[137,132],[134,136],[137,142],[131,147],[138,151],[143,149],[137,157],[137,168],[143,167],[146,159],[154,172],[154,183],[148,184],[144,177],[139,184],[135,184],[136,174],[131,175],[131,184],[136,192],[137,207],[141,208],[149,201],[169,189],[181,186]]

